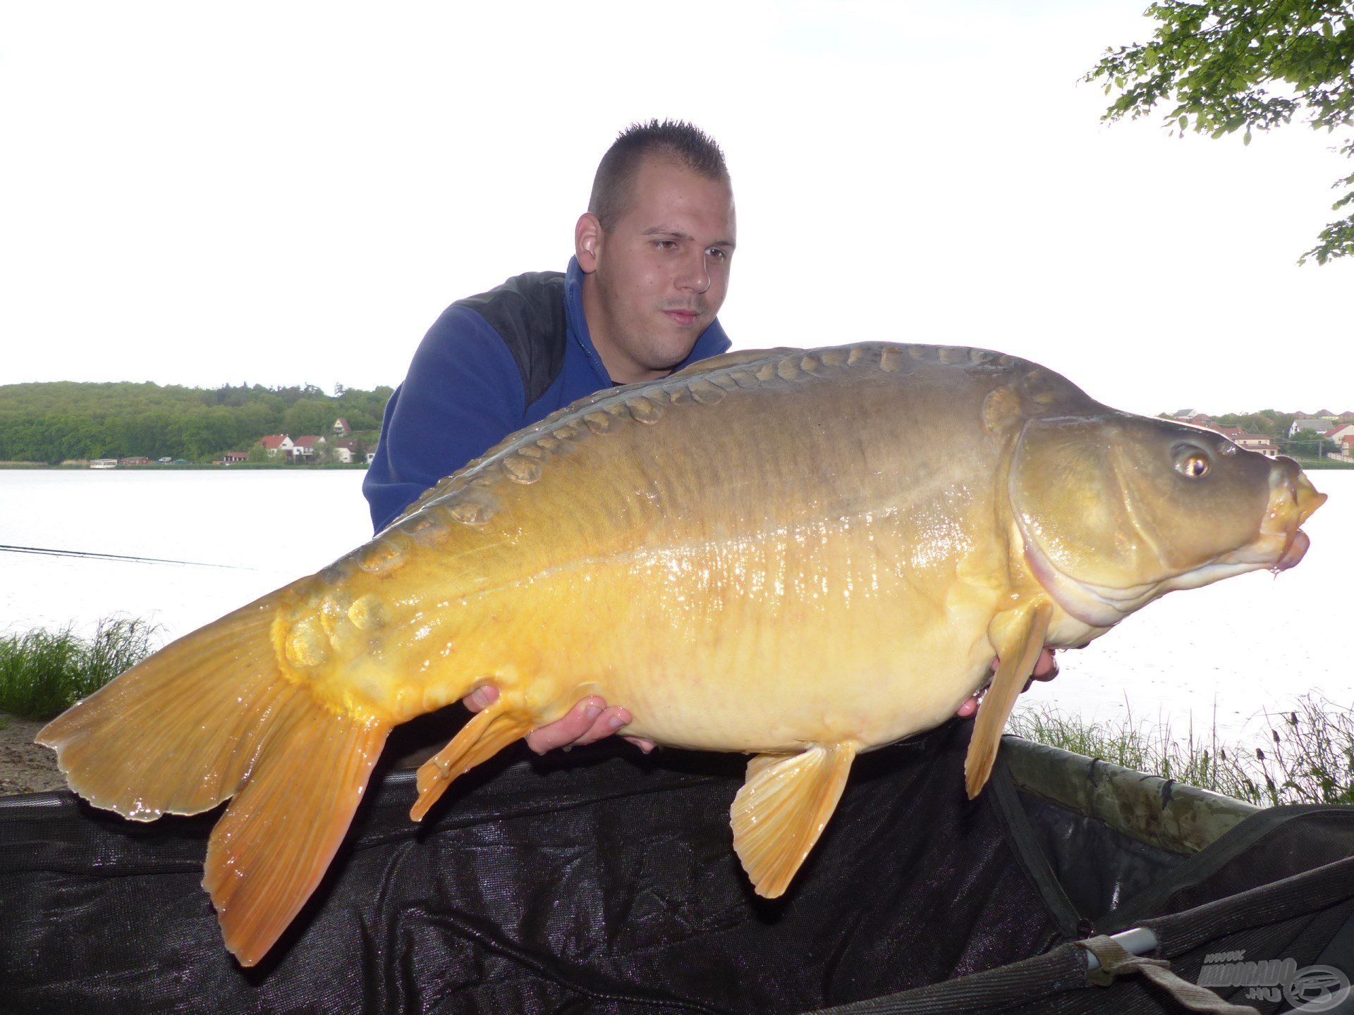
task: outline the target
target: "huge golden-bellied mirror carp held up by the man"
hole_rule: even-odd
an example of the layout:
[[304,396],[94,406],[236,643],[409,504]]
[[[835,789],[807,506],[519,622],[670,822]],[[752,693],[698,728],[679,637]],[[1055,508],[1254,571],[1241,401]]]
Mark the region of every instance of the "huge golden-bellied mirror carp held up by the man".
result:
[[978,793],[1041,646],[1290,567],[1323,499],[1288,459],[1116,411],[1011,356],[733,353],[512,434],[38,739],[126,817],[233,797],[203,885],[244,965],[320,881],[391,727],[486,683],[500,698],[420,769],[413,817],[601,694],[636,736],[756,755],[734,849],[776,896],[856,754],[938,725],[991,677]]

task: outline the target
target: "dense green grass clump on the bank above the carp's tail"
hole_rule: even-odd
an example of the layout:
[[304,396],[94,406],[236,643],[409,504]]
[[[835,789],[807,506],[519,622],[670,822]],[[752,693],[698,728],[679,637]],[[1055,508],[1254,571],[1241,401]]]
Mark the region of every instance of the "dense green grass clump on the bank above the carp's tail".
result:
[[38,628],[0,637],[0,712],[46,721],[154,651],[145,620],[100,620],[93,637]]

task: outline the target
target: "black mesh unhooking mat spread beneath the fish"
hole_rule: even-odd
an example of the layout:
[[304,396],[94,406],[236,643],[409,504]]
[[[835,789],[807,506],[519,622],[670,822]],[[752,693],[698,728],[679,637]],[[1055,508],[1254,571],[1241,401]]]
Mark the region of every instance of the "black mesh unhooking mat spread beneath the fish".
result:
[[1185,858],[1017,793],[1001,763],[968,801],[971,725],[858,758],[777,900],[731,849],[739,757],[510,750],[422,826],[413,773],[378,771],[253,969],[199,886],[215,812],[3,800],[0,1011],[1181,1011],[1139,977],[1087,981],[1070,942],[1135,924],[1189,980],[1232,949],[1354,972],[1354,808],[1274,808]]

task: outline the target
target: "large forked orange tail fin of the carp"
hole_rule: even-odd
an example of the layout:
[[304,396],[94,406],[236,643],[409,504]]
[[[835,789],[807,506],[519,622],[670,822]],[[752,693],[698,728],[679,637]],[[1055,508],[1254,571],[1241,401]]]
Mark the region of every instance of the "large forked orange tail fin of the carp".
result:
[[149,821],[234,797],[203,888],[241,965],[278,939],[333,859],[389,723],[337,713],[284,675],[272,593],[167,646],[49,723],[70,788]]

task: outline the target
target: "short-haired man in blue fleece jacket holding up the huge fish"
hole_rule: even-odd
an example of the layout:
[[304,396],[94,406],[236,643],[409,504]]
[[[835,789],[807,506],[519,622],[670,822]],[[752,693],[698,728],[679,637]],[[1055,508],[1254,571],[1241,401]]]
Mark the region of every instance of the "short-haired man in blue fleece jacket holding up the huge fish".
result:
[[[375,528],[513,430],[611,384],[726,352],[715,315],[735,233],[728,169],[707,134],[672,120],[621,133],[574,226],[569,271],[517,275],[452,303],[418,346],[363,480]],[[481,687],[464,704],[479,710],[497,694]],[[630,721],[594,696],[527,743],[538,752],[592,743]]]

